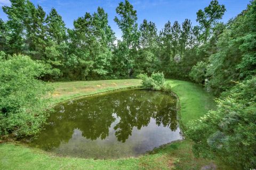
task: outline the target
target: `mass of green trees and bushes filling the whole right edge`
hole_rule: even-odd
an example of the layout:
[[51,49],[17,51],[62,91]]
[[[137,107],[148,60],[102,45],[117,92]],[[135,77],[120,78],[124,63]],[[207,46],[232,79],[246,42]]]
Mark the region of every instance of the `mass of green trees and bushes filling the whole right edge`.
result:
[[256,166],[256,1],[228,23],[217,23],[209,55],[190,71],[195,82],[220,94],[216,110],[191,122],[185,132],[196,156],[219,157],[237,169]]

